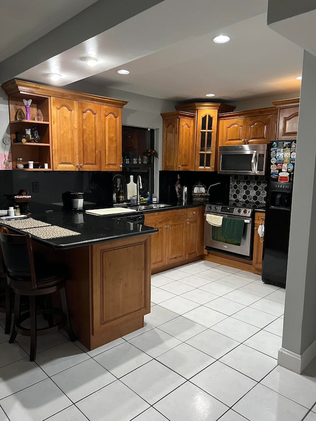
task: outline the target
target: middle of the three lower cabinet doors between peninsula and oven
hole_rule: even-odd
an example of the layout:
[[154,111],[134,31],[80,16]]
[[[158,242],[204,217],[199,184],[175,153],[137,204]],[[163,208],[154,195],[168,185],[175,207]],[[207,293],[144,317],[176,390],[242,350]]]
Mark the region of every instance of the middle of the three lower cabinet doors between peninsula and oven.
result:
[[168,221],[166,264],[179,262],[186,258],[186,225],[186,220],[182,219]]

